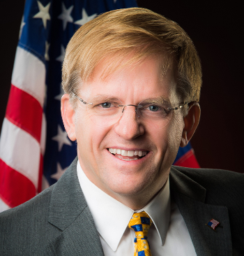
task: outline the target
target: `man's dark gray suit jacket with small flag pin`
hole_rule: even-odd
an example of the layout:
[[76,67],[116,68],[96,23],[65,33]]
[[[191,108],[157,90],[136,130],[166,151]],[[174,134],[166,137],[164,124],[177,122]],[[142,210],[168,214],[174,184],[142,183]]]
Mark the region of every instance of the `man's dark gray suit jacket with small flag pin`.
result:
[[[47,190],[0,214],[0,255],[104,255],[76,164]],[[198,256],[244,255],[243,181],[240,173],[172,166],[171,195]],[[206,227],[212,218],[222,225],[216,232]]]

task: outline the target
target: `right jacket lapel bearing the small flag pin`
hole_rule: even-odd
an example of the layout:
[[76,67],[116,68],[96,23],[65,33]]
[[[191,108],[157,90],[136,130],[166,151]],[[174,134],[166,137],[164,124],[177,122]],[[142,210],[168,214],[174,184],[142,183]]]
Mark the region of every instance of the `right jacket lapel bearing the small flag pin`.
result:
[[[231,230],[227,207],[205,204],[206,190],[174,167],[170,172],[170,190],[188,227],[197,256],[232,255]],[[206,223],[215,219],[223,227],[215,231]]]

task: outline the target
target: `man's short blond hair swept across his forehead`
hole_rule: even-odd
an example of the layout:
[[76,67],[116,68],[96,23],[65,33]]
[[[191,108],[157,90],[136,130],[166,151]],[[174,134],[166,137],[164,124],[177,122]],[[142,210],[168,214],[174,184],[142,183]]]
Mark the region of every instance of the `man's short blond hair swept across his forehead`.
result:
[[[175,63],[178,95],[183,101],[199,101],[201,64],[190,37],[176,22],[145,8],[112,10],[76,31],[63,61],[63,90],[77,93],[105,58],[103,73],[108,76],[151,55],[169,56],[166,66]],[[73,104],[74,99],[70,94]]]

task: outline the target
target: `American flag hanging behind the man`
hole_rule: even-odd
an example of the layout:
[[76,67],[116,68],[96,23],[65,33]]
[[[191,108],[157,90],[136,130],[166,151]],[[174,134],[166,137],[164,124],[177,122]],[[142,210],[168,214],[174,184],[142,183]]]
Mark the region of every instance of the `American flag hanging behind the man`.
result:
[[[60,113],[68,41],[100,13],[134,6],[135,0],[26,0],[1,130],[0,211],[54,184],[77,155]],[[176,160],[184,166],[182,155],[179,151]]]

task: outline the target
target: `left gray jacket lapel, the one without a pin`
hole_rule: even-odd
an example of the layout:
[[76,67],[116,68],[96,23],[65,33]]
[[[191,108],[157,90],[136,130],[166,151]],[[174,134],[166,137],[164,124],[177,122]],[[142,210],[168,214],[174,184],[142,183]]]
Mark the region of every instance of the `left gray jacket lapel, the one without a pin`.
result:
[[77,158],[54,185],[48,222],[61,230],[50,241],[47,255],[104,255],[79,180]]

